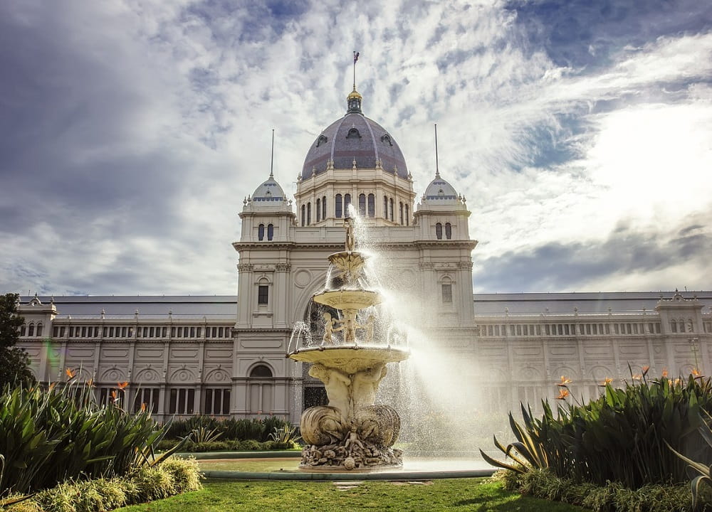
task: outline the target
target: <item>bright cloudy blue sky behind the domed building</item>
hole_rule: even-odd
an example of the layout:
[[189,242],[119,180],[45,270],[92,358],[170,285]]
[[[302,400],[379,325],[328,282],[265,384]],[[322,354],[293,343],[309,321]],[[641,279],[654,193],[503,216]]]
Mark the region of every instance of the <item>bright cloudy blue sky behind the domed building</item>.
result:
[[0,2],[0,292],[236,294],[345,113],[466,197],[476,292],[712,289],[712,3]]

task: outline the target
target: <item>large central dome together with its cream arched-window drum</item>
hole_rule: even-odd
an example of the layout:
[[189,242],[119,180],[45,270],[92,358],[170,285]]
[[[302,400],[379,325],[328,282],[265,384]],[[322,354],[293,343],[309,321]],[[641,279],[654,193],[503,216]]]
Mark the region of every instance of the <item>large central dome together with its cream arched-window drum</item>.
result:
[[412,176],[393,135],[362,112],[354,87],[346,114],[315,139],[297,177],[299,226],[341,226],[352,204],[372,226],[412,225]]

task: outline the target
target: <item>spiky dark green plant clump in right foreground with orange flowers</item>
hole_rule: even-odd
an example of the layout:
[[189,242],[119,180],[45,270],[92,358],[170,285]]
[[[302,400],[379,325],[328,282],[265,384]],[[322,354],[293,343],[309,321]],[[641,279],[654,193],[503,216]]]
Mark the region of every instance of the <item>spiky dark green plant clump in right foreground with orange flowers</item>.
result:
[[513,456],[514,464],[496,462],[525,472],[545,469],[577,483],[620,482],[628,489],[649,484],[686,481],[685,462],[666,446],[683,454],[700,453],[703,439],[698,412],[712,410],[709,379],[642,380],[623,389],[607,384],[604,394],[586,405],[560,405],[556,414],[547,402],[538,419],[522,407],[523,423],[511,417],[517,442],[496,446]]

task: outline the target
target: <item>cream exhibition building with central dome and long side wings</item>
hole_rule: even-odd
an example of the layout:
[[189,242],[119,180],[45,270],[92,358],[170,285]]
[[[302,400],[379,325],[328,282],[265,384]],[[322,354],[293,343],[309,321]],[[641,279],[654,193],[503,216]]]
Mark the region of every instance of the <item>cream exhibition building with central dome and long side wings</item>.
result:
[[710,375],[712,292],[473,293],[465,198],[437,169],[415,191],[396,138],[365,117],[354,89],[345,115],[305,148],[293,198],[265,173],[239,213],[240,240],[226,240],[239,255],[236,296],[21,297],[20,345],[37,380],[61,382],[69,369],[93,379],[98,400],[120,393],[159,420],[271,414],[297,424],[326,397],[285,356],[295,332],[323,336],[311,299],[344,248],[350,208],[388,297],[392,327],[380,335],[407,336],[434,380],[461,381],[453,400],[476,394],[476,407],[506,411],[554,400],[562,375],[582,400],[644,371]]

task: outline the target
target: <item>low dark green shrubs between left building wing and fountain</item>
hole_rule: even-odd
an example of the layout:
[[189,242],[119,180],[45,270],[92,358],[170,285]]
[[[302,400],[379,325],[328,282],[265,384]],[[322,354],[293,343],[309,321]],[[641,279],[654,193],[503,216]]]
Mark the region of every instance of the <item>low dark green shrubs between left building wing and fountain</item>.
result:
[[168,425],[166,439],[182,439],[194,431],[214,432],[222,441],[235,439],[254,439],[265,442],[276,429],[291,427],[291,423],[279,416],[266,416],[261,419],[227,418],[197,415],[187,420],[175,420]]

